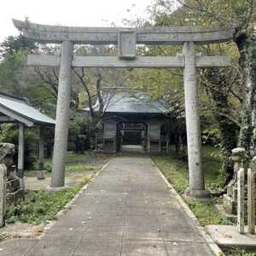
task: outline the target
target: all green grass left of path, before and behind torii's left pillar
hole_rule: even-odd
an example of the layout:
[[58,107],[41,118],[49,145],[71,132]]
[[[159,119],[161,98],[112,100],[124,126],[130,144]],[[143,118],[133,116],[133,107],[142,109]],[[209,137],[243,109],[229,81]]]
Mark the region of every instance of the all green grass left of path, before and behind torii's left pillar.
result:
[[[82,182],[70,189],[59,192],[30,191],[26,194],[25,201],[19,201],[16,204],[7,207],[6,222],[15,221],[26,222],[30,224],[44,223],[46,220],[54,219],[59,212],[73,196],[78,193],[84,184],[88,183],[92,175],[86,175],[86,172],[92,174],[99,171],[101,166],[108,160],[109,156],[105,154],[95,154],[86,152],[84,154],[67,154],[67,177],[83,178]],[[45,176],[49,177],[51,172],[51,159],[44,160]],[[37,177],[37,171],[26,171],[26,177]]]

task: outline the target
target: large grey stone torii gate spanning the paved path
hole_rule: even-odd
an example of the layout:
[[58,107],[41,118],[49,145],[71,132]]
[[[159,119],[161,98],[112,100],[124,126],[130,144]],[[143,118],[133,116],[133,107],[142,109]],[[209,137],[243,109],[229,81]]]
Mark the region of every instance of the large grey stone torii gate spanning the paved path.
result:
[[[186,126],[189,154],[189,188],[187,195],[205,198],[201,167],[201,128],[198,113],[197,68],[225,67],[230,58],[224,55],[196,54],[196,44],[214,44],[230,41],[231,29],[199,27],[75,27],[45,26],[28,21],[13,20],[24,37],[39,43],[61,44],[61,56],[28,55],[30,66],[61,67],[56,109],[55,146],[51,188],[60,189],[65,183],[67,154],[68,112],[72,67],[180,67],[183,68]],[[118,56],[74,56],[74,44],[117,44]],[[177,56],[137,56],[137,44],[183,44],[183,53]]]

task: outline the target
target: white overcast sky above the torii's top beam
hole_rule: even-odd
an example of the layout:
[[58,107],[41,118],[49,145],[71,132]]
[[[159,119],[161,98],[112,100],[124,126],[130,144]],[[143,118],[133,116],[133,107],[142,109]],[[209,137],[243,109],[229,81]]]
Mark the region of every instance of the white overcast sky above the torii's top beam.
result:
[[34,23],[48,25],[109,26],[114,22],[120,26],[124,18],[146,17],[150,3],[152,0],[2,0],[0,42],[18,35],[12,18],[28,17]]

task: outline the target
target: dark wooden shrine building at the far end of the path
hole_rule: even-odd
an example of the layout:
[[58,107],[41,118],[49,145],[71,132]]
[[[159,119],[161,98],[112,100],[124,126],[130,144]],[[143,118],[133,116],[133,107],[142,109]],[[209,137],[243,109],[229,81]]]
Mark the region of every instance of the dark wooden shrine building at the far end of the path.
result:
[[[96,136],[96,150],[109,153],[168,151],[165,102],[153,100],[145,91],[125,88],[105,88],[102,99],[103,131]],[[98,108],[96,102],[95,110]]]

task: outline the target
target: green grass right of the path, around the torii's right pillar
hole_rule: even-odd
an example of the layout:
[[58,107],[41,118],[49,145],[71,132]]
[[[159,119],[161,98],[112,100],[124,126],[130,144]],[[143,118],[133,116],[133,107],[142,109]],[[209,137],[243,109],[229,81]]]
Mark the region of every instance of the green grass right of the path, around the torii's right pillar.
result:
[[[185,189],[189,187],[188,163],[178,160],[173,154],[152,156],[152,159],[168,181],[172,183],[177,193],[183,195]],[[218,158],[218,150],[216,148],[203,148],[202,166],[207,189],[216,190],[221,188],[224,178],[219,173],[221,161]],[[215,208],[218,199],[209,202],[199,200],[185,201],[202,226],[207,224],[228,224],[228,221]]]

